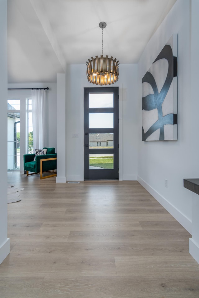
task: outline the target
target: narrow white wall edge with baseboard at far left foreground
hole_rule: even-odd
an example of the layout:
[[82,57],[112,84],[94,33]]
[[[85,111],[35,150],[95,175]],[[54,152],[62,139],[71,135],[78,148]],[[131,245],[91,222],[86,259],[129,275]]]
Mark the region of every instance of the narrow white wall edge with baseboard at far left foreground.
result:
[[[10,252],[7,238],[7,0],[0,0],[0,127],[1,154],[0,165],[0,264]],[[3,145],[2,145],[3,144]]]

